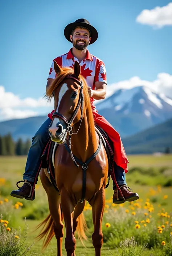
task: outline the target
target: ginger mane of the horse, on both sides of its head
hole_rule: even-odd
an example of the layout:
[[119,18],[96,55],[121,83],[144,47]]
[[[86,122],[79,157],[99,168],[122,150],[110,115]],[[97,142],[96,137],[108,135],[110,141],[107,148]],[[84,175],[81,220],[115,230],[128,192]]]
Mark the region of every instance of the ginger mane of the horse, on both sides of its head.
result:
[[[52,98],[53,98],[53,91],[57,88],[57,86],[59,84],[61,84],[61,82],[63,80],[65,80],[65,78],[67,76],[74,76],[74,70],[72,68],[69,68],[69,67],[64,67],[64,68],[61,68],[63,70],[63,72],[59,73],[58,76],[54,79],[54,81],[52,82],[52,84],[50,84],[48,86],[48,89],[46,91],[46,94],[45,94],[45,98],[48,100],[48,101],[51,101]],[[85,78],[83,76],[79,76],[79,79],[82,80],[82,84],[83,84],[83,94],[84,94],[84,102],[85,102],[85,105],[88,106],[90,105],[90,98],[89,98],[89,94],[88,94],[88,86],[87,86],[87,82],[85,80]]]

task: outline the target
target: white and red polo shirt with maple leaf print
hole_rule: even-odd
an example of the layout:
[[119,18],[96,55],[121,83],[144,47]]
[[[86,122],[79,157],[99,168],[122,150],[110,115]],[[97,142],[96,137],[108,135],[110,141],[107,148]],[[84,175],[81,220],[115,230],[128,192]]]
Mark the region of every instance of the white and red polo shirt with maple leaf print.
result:
[[[55,58],[57,64],[61,67],[74,67],[75,61],[78,61],[72,54],[72,48],[68,53],[63,54],[57,58]],[[50,68],[48,78],[56,78],[56,72],[54,70],[54,60]],[[79,62],[79,61],[78,61]],[[105,82],[106,81],[106,69],[105,64],[99,58],[93,56],[87,50],[86,57],[83,61],[80,62],[81,66],[81,75],[86,79],[87,85],[91,87],[92,90],[95,90],[95,82]],[[90,98],[92,109],[95,109],[94,99]],[[52,119],[52,114],[48,114],[48,117]]]

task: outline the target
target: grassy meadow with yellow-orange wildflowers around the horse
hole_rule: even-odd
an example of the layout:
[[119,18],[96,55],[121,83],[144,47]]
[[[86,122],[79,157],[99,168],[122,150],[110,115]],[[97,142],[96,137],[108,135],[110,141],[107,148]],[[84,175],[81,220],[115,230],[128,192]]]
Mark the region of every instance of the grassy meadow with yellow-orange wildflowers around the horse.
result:
[[[128,202],[120,206],[114,206],[112,204],[111,196],[113,195],[112,184],[106,189],[106,209],[105,215],[103,217],[103,234],[105,243],[102,247],[102,256],[111,255],[111,253],[116,256],[116,247],[119,247],[119,241],[123,241],[125,237],[131,238],[135,235],[136,239],[142,243],[142,240],[146,242],[148,240],[148,245],[150,247],[143,253],[144,256],[152,255],[164,255],[161,254],[164,247],[160,244],[161,240],[170,244],[170,224],[172,222],[172,203],[171,203],[171,192],[172,187],[163,184],[165,182],[168,184],[171,179],[172,174],[172,155],[129,155],[128,159],[130,163],[128,164],[129,172],[126,174],[127,185],[132,188],[133,191],[138,192],[140,200],[130,204]],[[0,157],[0,192],[1,198],[0,202],[0,214],[4,215],[3,207],[15,206],[16,200],[12,198],[9,194],[12,189],[16,188],[16,182],[22,180],[22,174],[24,172],[26,163],[26,157]],[[137,169],[138,168],[138,169]],[[141,171],[139,171],[139,168]],[[136,170],[135,170],[136,169]],[[131,170],[131,173],[130,173]],[[159,185],[160,184],[160,185]],[[7,198],[9,202],[5,203],[4,199]],[[11,201],[11,202],[10,202]],[[19,200],[22,202],[22,208],[15,209],[15,214],[13,212],[12,216],[10,214],[6,215],[9,221],[8,226],[15,227],[18,229],[19,226],[24,228],[24,217],[26,217],[26,223],[29,224],[28,238],[26,239],[26,244],[32,244],[35,240],[38,231],[34,231],[37,224],[44,219],[48,214],[48,203],[46,199],[45,191],[42,188],[40,181],[36,187],[36,199],[33,202],[27,200]],[[145,204],[145,202],[147,202]],[[150,206],[148,206],[150,204]],[[146,206],[145,206],[146,205]],[[152,206],[151,206],[152,205]],[[148,206],[148,207],[147,207]],[[8,208],[7,207],[7,208]],[[147,208],[146,208],[147,207]],[[92,220],[91,220],[91,210],[87,207],[85,213],[85,218],[87,224],[89,225],[88,241],[85,242],[86,248],[83,247],[81,242],[77,240],[76,255],[86,256],[94,255],[94,248],[91,241],[91,234],[93,232]],[[151,210],[153,209],[153,210]],[[128,213],[127,213],[127,211]],[[2,211],[2,212],[1,212]],[[5,210],[6,213],[9,211]],[[135,212],[135,215],[132,213]],[[144,216],[147,212],[148,216]],[[166,214],[168,217],[161,217],[161,214]],[[151,217],[150,217],[151,216]],[[143,228],[140,222],[142,219],[146,220],[146,217],[150,219],[150,224],[147,223]],[[4,217],[3,217],[4,219]],[[135,221],[139,221],[140,228],[137,230],[135,228]],[[165,224],[167,223],[168,224]],[[106,227],[106,223],[110,224],[110,227]],[[146,222],[145,222],[146,223]],[[157,225],[165,224],[165,228],[162,233],[157,233],[155,227]],[[141,232],[142,231],[142,232]],[[150,241],[152,236],[155,237],[155,241]],[[142,233],[142,237],[140,237]],[[168,234],[169,233],[169,234]],[[169,236],[169,237],[168,237]],[[153,243],[153,249],[151,248],[151,243]],[[36,255],[54,256],[56,255],[56,239],[53,238],[49,247],[45,252],[41,252],[42,241],[36,242],[31,248],[30,254],[36,252]],[[110,251],[108,251],[110,248]],[[66,255],[65,248],[63,247],[63,255]],[[170,254],[166,253],[166,256]],[[172,255],[172,254],[171,254]],[[4,256],[4,255],[3,255]],[[128,256],[128,254],[124,255]],[[137,254],[135,255],[137,256]]]

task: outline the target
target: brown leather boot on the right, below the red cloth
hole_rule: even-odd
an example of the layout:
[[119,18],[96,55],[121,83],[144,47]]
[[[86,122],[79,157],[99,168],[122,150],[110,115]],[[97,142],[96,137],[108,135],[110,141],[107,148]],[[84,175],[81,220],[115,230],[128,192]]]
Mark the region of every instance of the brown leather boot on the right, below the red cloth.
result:
[[[114,196],[113,196],[114,204],[123,204],[126,201],[131,202],[131,201],[135,201],[135,200],[139,199],[139,195],[137,193],[133,193],[128,190],[128,188],[130,188],[130,187],[128,187],[126,185],[122,185],[119,188],[122,192],[122,195],[121,195],[119,189],[115,188]],[[131,189],[131,191],[132,191],[132,189]]]

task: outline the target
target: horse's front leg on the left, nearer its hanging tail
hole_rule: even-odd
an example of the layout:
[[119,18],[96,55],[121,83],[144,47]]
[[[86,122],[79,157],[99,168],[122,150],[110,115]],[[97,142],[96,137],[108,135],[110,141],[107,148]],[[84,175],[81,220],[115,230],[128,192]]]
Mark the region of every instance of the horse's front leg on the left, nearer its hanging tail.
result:
[[73,233],[73,216],[75,205],[71,202],[69,193],[65,188],[62,188],[61,190],[61,207],[64,214],[66,228],[65,248],[67,256],[73,256],[76,248],[76,239]]

